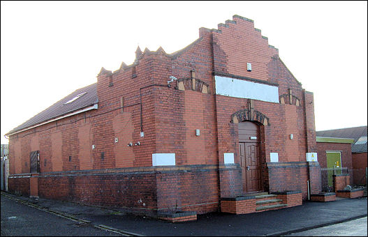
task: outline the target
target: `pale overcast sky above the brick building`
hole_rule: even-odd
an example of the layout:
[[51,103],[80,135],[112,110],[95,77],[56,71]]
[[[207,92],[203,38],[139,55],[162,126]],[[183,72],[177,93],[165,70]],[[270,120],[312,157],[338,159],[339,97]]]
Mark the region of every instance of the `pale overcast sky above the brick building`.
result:
[[316,130],[367,125],[367,1],[1,1],[1,144],[101,67],[133,63],[138,45],[172,53],[233,15],[314,93]]

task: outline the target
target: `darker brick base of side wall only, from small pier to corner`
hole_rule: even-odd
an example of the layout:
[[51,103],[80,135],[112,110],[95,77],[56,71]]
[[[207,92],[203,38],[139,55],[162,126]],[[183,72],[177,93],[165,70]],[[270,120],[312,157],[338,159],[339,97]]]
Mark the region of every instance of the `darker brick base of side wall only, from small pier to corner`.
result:
[[151,171],[60,172],[41,174],[38,194],[48,199],[97,206],[119,206],[134,212],[156,208],[156,178]]

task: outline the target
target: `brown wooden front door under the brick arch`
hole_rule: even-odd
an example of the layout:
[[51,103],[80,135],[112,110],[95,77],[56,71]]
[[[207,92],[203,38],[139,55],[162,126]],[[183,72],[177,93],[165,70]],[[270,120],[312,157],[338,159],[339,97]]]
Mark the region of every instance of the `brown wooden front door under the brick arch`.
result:
[[240,166],[244,192],[257,192],[260,185],[260,135],[255,123],[239,123]]

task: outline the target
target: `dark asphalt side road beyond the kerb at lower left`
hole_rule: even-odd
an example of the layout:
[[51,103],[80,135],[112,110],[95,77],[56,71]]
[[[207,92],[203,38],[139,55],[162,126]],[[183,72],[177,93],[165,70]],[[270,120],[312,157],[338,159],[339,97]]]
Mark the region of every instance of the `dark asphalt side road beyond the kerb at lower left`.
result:
[[78,223],[1,195],[1,236],[122,236]]

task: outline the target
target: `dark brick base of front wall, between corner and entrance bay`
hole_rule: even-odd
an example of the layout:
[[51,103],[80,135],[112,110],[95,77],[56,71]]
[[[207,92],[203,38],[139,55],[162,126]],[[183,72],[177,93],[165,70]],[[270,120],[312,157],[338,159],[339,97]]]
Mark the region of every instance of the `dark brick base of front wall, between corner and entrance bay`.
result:
[[198,214],[218,211],[218,182],[215,166],[185,166],[158,172],[157,208],[159,211],[196,211]]

